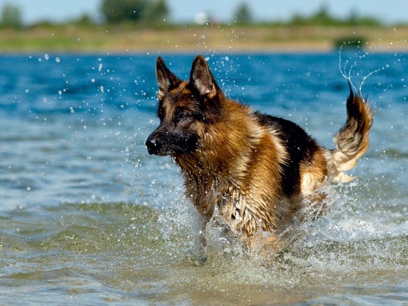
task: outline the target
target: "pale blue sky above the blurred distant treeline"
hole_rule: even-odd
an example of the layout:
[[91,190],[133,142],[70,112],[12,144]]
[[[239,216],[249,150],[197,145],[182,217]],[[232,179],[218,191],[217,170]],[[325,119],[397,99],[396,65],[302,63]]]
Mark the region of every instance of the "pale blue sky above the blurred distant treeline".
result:
[[[172,21],[192,21],[198,12],[217,16],[221,21],[233,18],[242,0],[167,0]],[[331,15],[345,17],[356,12],[387,23],[408,22],[408,0],[247,0],[252,16],[258,20],[288,20],[293,14],[311,15],[322,5]],[[31,24],[39,20],[65,21],[82,14],[98,17],[101,0],[0,0],[18,5],[23,21]]]

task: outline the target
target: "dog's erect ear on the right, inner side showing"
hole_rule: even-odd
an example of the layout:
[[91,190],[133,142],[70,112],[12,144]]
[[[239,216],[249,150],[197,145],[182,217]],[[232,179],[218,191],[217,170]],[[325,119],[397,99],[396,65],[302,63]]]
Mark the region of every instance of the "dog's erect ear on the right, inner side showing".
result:
[[194,85],[200,95],[208,94],[211,97],[217,93],[213,75],[202,55],[197,55],[194,58],[190,72],[190,83]]

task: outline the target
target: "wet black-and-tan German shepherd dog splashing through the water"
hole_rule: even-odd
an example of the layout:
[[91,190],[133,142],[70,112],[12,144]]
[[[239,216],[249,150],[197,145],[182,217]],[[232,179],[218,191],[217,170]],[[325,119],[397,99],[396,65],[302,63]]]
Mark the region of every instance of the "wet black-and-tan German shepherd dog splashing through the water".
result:
[[240,238],[260,226],[276,233],[305,205],[321,202],[316,189],[351,180],[343,171],[367,150],[373,111],[350,81],[347,121],[327,149],[296,123],[228,99],[201,55],[188,81],[158,57],[156,78],[160,125],[147,138],[149,154],[174,159],[200,214],[208,221],[217,207]]

